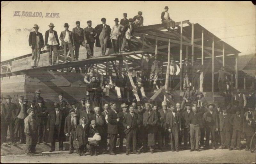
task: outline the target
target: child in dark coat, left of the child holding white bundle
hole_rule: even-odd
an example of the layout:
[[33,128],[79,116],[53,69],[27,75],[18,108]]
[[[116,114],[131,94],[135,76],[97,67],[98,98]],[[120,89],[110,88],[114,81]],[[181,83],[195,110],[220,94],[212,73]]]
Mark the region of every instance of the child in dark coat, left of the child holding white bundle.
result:
[[[78,156],[82,156],[84,150],[86,150],[86,127],[87,125],[85,124],[85,117],[81,118],[79,121],[79,125],[76,127],[76,140],[78,140]],[[84,154],[86,155],[86,154]]]

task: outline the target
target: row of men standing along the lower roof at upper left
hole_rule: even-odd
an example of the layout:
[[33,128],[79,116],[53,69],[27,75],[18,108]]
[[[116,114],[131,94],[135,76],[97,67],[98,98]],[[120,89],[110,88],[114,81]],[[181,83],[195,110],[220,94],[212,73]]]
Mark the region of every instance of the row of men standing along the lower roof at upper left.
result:
[[106,55],[107,48],[113,48],[115,53],[124,52],[126,42],[131,51],[133,28],[143,26],[143,17],[141,15],[142,12],[138,12],[138,15],[134,16],[133,19],[127,19],[127,13],[124,13],[124,18],[121,19],[120,24],[118,18],[114,20],[115,25],[112,29],[106,24],[106,18],[102,18],[102,24],[97,25],[95,28],[92,28],[91,20],[87,21],[88,27],[84,29],[80,27],[80,21],[76,21],[76,27],[72,31],[68,30],[69,25],[65,23],[65,30],[61,31],[59,38],[57,32],[53,30],[55,27],[53,23],[48,25],[50,29],[45,32],[44,38],[42,33],[38,32],[39,26],[35,24],[33,27],[35,31],[30,32],[28,39],[29,46],[32,49],[31,68],[38,66],[40,53],[44,46],[49,52],[49,64],[56,64],[60,41],[64,50],[64,63],[69,62],[67,49],[70,51],[71,61],[78,60],[80,46],[86,48],[87,58],[92,58],[95,40],[95,46],[101,48],[101,56]]

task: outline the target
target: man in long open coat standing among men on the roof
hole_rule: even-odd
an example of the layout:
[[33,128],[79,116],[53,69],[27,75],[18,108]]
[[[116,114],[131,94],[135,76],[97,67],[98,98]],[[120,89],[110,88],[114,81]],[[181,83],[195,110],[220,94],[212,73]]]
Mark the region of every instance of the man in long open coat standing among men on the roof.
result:
[[101,22],[102,24],[95,27],[95,32],[97,33],[96,47],[100,47],[101,56],[105,56],[107,48],[111,48],[111,41],[109,38],[111,28],[106,24],[106,18],[101,18]]

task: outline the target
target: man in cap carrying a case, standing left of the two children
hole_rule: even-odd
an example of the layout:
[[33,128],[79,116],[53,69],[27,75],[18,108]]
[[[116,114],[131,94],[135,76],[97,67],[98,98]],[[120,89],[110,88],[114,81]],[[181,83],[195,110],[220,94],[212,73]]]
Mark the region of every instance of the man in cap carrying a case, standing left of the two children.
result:
[[69,115],[65,119],[64,133],[69,138],[69,154],[74,152],[74,140],[76,134],[76,126],[79,123],[76,110],[70,109]]

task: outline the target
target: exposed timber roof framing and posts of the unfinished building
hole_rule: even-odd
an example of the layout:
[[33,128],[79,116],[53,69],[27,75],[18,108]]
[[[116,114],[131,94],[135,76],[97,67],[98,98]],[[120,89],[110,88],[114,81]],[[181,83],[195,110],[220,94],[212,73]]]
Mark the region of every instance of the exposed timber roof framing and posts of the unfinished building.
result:
[[[166,77],[163,78],[165,79],[165,85],[163,87],[161,78],[161,87],[159,87],[159,90],[151,99],[157,97],[159,93],[163,93],[165,96],[164,99],[166,100],[167,98],[171,101],[166,92],[169,83],[169,69],[167,68],[169,67],[170,57],[174,58],[181,69],[185,58],[188,58],[192,65],[194,65],[196,60],[199,60],[204,66],[203,72],[200,75],[199,90],[212,92],[212,97],[214,91],[217,91],[216,89],[218,88],[216,87],[216,79],[218,78],[216,78],[217,75],[214,77],[213,73],[217,72],[222,65],[231,73],[231,77],[229,77],[231,86],[235,84],[235,88],[238,87],[238,54],[241,52],[213,35],[198,23],[190,23],[189,20],[175,22],[175,30],[171,32],[168,31],[163,24],[134,28],[132,50],[133,51],[120,54],[108,53],[108,56],[72,61],[53,66],[42,66],[34,68],[33,70],[57,70],[62,72],[64,69],[67,69],[67,71],[64,72],[68,74],[69,72],[74,72],[76,67],[80,67],[81,70],[81,67],[94,66],[98,75],[103,76],[106,74],[108,68],[113,68],[114,73],[118,75],[121,74],[121,68],[125,67],[129,79],[131,80],[132,75],[135,76],[135,70],[141,71],[141,61],[144,59],[144,54],[149,54],[151,58],[153,58],[155,54],[158,54],[160,60],[163,62],[161,73],[166,74]],[[4,66],[4,64],[6,65],[6,62],[1,62],[1,65]],[[11,70],[10,67],[9,70]],[[31,70],[32,69],[25,69],[14,72],[8,72],[8,70],[6,72],[1,71],[1,77],[26,74]],[[233,74],[235,74],[234,81]],[[174,90],[180,91],[180,95],[183,84],[181,75],[180,73],[180,80],[174,87]],[[194,75],[192,75],[192,77],[194,77]],[[207,82],[207,85],[205,82]],[[132,80],[131,83],[136,96],[136,87],[134,87]],[[139,100],[137,96],[136,99]]]

